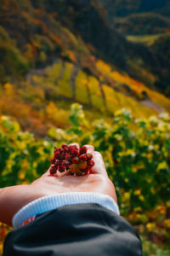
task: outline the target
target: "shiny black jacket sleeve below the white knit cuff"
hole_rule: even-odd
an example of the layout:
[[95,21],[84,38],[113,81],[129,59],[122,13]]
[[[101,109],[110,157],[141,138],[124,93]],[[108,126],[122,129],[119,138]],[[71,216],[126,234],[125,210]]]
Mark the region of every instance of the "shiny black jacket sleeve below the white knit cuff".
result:
[[11,231],[3,256],[141,256],[138,234],[98,204],[59,207]]

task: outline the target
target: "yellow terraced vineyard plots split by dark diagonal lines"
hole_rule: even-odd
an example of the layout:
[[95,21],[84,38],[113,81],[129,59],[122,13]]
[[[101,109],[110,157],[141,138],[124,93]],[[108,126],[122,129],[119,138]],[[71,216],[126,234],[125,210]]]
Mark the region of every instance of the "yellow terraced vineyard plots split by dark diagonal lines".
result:
[[[166,96],[148,89],[126,73],[111,71],[111,67],[103,61],[97,61],[96,68],[100,73],[99,78],[85,73],[71,62],[59,59],[52,67],[44,69],[42,75],[32,73],[29,82],[34,86],[41,84],[47,100],[79,102],[85,108],[109,115],[119,108],[129,108],[136,117],[170,109]],[[147,108],[144,101],[152,104],[145,104]]]

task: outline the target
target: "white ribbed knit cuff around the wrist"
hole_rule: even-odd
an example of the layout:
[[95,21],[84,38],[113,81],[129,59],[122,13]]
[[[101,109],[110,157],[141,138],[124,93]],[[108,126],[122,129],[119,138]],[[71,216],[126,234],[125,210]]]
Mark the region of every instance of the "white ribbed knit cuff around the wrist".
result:
[[66,205],[80,203],[97,203],[102,207],[120,214],[119,208],[111,196],[99,193],[88,192],[71,192],[58,195],[48,195],[41,197],[22,207],[19,212],[14,214],[13,226],[19,228],[20,224],[34,215],[42,214]]

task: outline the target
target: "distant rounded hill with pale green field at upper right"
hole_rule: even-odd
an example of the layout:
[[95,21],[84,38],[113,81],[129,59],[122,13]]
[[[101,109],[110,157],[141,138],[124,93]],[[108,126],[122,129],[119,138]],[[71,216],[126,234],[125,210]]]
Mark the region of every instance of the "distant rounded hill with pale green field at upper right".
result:
[[[144,44],[170,61],[170,19],[166,16],[154,13],[133,14],[124,18],[116,18],[113,26],[126,35],[128,41]],[[164,87],[164,93],[169,95],[168,86]]]

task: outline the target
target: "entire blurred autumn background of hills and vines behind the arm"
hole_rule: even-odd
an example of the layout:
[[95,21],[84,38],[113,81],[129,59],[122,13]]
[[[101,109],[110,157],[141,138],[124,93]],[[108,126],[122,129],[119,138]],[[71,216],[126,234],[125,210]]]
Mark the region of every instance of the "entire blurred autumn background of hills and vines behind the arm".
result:
[[168,0],[0,0],[0,187],[92,143],[144,255],[170,255],[169,96]]

